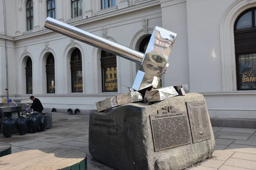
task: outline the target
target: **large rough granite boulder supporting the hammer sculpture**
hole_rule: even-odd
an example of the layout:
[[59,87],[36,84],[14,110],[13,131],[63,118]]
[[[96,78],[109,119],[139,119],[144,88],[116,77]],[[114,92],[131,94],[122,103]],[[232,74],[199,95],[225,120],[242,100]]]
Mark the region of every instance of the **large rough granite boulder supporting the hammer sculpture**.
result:
[[[183,142],[184,144],[180,144],[181,146],[168,147],[170,149],[159,147],[156,150],[154,142],[158,140],[159,144],[160,139],[154,139],[157,138],[156,135],[153,138],[152,116],[150,116],[160,115],[159,112],[162,115],[164,113],[163,108],[175,108],[176,113],[180,111],[183,116],[188,115],[187,102],[202,101],[205,102],[205,99],[201,94],[189,93],[186,96],[176,96],[154,105],[132,103],[119,106],[108,113],[91,111],[90,154],[98,161],[118,170],[182,170],[204,161],[215,150],[215,139],[210,121],[207,122],[207,125],[204,122],[204,126],[208,126],[209,129],[209,136],[206,139],[195,140],[194,143],[193,140],[190,140],[190,144],[188,144],[189,138],[187,138],[186,142]],[[205,113],[205,117],[209,120],[207,108],[205,108]],[[179,116],[177,117],[180,119]],[[198,119],[198,121],[201,120]],[[176,122],[179,123],[177,120]],[[189,122],[183,122],[183,126],[188,128],[189,132],[180,138],[183,139],[189,134],[190,139],[192,139],[191,132],[194,130],[190,129]],[[180,125],[177,124],[177,128],[179,130],[177,133],[183,133],[180,130]],[[172,127],[172,133],[175,133],[173,132],[175,129],[176,127]],[[154,126],[154,130],[157,130],[156,126]],[[204,131],[200,133],[204,133]]]

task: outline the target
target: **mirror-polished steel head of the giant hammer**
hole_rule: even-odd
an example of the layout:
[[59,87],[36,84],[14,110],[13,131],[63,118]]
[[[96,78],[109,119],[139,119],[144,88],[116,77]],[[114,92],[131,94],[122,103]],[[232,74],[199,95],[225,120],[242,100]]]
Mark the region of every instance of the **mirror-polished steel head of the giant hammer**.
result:
[[156,26],[148,42],[142,63],[132,88],[140,91],[144,88],[157,88],[162,74],[166,72],[168,58],[177,34]]

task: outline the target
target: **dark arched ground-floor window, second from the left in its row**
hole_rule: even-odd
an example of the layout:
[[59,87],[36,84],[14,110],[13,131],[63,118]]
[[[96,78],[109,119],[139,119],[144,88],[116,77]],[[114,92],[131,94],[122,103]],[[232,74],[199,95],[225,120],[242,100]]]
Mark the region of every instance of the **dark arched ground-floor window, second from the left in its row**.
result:
[[54,57],[50,53],[46,59],[47,93],[55,93],[55,68]]

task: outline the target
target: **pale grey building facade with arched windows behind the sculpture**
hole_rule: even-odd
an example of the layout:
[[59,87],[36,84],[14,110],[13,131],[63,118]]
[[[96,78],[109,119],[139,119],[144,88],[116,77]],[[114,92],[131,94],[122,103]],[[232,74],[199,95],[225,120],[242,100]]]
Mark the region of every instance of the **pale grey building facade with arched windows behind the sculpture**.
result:
[[[3,2],[0,2],[3,14]],[[144,52],[155,26],[177,33],[163,87],[188,84],[212,118],[256,119],[254,0],[6,0],[0,17],[1,82],[9,98],[80,111],[128,92],[138,65],[44,28],[53,17]]]

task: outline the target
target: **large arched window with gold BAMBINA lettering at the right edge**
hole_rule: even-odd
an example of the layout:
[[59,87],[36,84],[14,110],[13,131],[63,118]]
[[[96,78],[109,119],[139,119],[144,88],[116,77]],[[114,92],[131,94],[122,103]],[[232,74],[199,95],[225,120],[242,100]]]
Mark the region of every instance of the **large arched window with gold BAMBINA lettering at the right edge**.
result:
[[244,11],[234,25],[237,90],[256,90],[256,8]]

